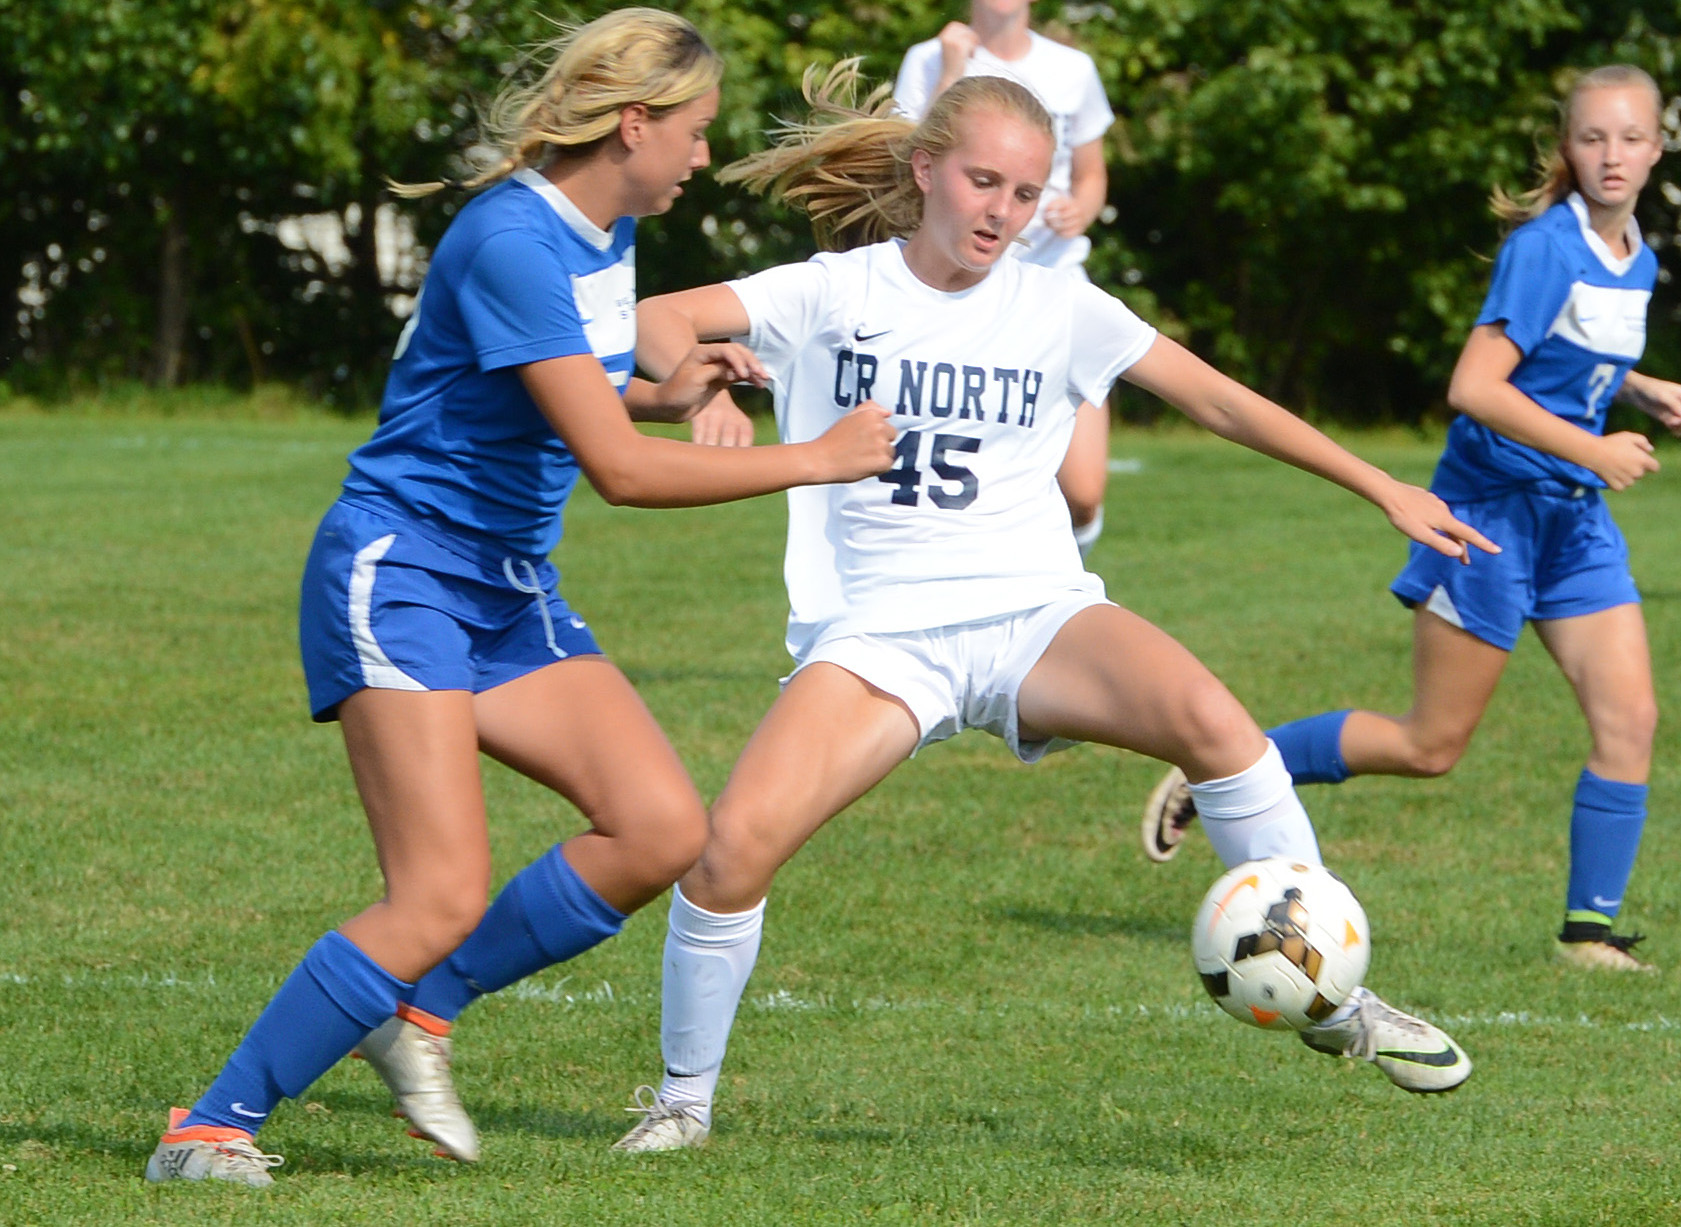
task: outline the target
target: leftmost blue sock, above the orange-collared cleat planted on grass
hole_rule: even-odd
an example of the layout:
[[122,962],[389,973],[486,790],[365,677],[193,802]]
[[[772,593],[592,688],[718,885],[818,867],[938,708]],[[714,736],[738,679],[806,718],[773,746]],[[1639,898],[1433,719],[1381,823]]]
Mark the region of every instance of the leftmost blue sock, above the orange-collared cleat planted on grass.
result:
[[182,1121],[256,1133],[397,1010],[412,985],[333,931],[309,946]]

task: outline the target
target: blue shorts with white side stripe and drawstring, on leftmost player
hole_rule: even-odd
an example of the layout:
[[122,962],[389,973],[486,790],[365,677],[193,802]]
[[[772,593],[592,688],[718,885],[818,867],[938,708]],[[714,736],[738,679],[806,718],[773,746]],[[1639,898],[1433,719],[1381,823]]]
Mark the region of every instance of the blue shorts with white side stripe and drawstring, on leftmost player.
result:
[[400,514],[340,501],[304,565],[298,608],[309,711],[335,719],[360,689],[471,691],[573,656],[595,635],[546,558],[487,558]]

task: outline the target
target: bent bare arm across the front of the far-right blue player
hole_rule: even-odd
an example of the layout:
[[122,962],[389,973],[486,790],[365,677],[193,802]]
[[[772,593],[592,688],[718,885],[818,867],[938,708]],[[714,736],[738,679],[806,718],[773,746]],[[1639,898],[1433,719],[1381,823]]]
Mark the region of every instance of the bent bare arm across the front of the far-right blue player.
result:
[[1504,324],[1478,324],[1459,351],[1447,403],[1506,439],[1597,472],[1612,489],[1627,489],[1657,472],[1646,435],[1636,430],[1595,435],[1523,395],[1511,382],[1521,360],[1523,351],[1506,336]]

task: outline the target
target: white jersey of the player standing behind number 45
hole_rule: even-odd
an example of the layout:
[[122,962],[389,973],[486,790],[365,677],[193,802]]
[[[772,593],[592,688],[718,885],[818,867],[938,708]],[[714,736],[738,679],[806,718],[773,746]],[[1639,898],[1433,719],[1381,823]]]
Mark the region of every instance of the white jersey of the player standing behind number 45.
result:
[[[1032,45],[1020,59],[999,59],[985,47],[977,47],[963,71],[967,77],[1010,77],[1027,86],[1044,103],[1056,123],[1056,155],[1051,160],[1051,176],[1039,200],[1039,212],[1022,230],[1022,244],[1012,244],[1012,254],[1034,264],[1057,269],[1084,264],[1091,252],[1091,239],[1078,235],[1062,239],[1044,224],[1044,208],[1057,197],[1066,197],[1074,183],[1074,150],[1109,131],[1115,111],[1103,94],[1103,81],[1091,55],[1078,47],[1066,47],[1042,34],[1029,32]],[[893,86],[893,101],[911,119],[928,114],[933,89],[940,84],[940,40],[920,42],[904,52],[899,79]]]

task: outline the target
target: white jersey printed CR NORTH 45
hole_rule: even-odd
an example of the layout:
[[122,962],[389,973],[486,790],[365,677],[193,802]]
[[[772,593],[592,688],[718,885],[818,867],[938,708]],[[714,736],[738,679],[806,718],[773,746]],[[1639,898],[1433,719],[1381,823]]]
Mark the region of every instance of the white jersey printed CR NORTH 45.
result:
[[923,630],[1103,593],[1056,474],[1074,405],[1101,402],[1155,341],[1123,303],[1022,261],[943,292],[906,267],[898,240],[730,286],[772,373],[783,442],[815,439],[864,400],[899,430],[888,472],[788,491],[795,659],[830,624]]

